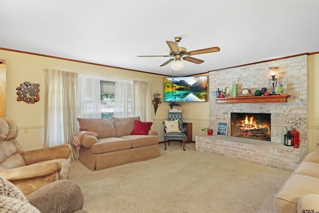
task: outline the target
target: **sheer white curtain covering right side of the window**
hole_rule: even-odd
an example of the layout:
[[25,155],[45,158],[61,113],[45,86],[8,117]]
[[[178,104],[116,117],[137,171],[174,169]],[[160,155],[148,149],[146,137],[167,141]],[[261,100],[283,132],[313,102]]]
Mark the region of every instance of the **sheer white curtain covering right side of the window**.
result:
[[133,81],[131,80],[115,81],[114,117],[132,116],[132,87]]

